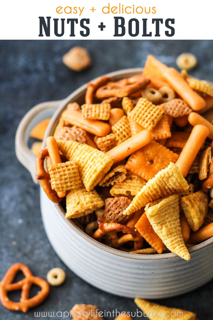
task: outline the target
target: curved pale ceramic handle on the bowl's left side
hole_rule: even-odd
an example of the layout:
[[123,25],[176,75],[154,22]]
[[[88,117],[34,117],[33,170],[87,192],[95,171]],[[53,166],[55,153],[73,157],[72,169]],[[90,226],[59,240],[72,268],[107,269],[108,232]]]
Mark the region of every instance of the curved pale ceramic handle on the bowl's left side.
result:
[[63,104],[64,100],[43,102],[32,109],[22,118],[16,131],[15,151],[21,164],[30,172],[34,183],[38,184],[35,171],[36,156],[27,146],[30,132],[36,124],[44,119],[51,118],[56,109]]

